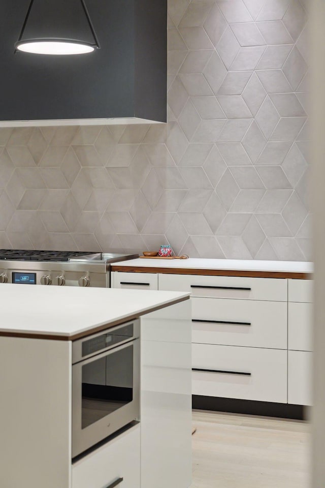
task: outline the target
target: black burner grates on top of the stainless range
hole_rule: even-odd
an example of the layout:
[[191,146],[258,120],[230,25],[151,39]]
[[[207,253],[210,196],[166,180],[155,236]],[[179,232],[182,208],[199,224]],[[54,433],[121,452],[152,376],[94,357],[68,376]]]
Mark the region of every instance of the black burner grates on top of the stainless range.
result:
[[0,249],[0,260],[8,261],[66,261],[71,258],[89,256],[95,252],[76,251],[24,251],[15,249]]

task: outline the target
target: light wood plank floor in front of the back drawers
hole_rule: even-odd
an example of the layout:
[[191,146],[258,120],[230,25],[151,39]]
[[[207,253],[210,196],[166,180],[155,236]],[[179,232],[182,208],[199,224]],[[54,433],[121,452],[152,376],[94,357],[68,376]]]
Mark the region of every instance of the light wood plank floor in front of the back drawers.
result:
[[191,488],[308,488],[309,425],[193,411]]

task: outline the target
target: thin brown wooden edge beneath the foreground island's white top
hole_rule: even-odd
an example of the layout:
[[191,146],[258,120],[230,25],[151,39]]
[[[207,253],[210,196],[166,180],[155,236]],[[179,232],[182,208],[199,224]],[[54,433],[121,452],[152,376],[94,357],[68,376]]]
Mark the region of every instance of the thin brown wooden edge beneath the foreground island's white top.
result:
[[123,324],[124,322],[128,322],[129,320],[136,320],[139,317],[142,317],[146,314],[151,314],[152,312],[156,312],[160,309],[165,309],[171,305],[176,305],[181,301],[189,300],[189,296],[184,296],[182,298],[177,298],[176,300],[170,301],[164,305],[157,305],[150,310],[143,311],[134,315],[128,315],[122,319],[115,320],[114,322],[110,322],[108,324],[99,325],[98,327],[93,327],[91,330],[85,330],[84,332],[80,332],[74,335],[59,335],[59,334],[41,334],[41,333],[28,333],[28,332],[16,332],[16,331],[1,331],[0,330],[0,337],[19,337],[24,339],[43,339],[47,341],[76,341],[77,339],[81,339],[83,337],[87,337],[88,335],[95,334],[97,332],[101,332],[105,329],[110,329],[111,327],[115,327],[116,325]]

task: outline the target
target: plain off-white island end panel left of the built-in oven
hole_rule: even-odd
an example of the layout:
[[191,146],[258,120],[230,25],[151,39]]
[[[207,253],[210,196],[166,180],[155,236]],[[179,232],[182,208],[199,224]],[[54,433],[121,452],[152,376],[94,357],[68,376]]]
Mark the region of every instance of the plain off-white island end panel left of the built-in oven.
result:
[[0,337],[0,350],[1,488],[71,488],[71,342]]

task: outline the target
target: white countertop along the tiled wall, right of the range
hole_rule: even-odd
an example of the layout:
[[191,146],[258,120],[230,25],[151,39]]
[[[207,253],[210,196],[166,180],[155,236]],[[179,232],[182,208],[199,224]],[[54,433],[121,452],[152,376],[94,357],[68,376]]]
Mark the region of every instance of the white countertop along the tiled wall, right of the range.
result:
[[135,266],[184,269],[223,269],[229,271],[264,271],[287,273],[312,273],[313,263],[301,261],[254,261],[241,259],[131,259],[114,263],[114,266]]

